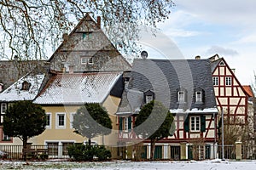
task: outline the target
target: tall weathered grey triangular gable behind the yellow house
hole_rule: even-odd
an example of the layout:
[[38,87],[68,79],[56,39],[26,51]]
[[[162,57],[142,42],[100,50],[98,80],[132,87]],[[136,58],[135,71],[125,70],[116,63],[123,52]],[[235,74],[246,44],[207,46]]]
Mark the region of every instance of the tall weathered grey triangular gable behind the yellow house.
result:
[[50,57],[50,69],[55,71],[128,71],[131,65],[109,41],[97,22],[85,14]]

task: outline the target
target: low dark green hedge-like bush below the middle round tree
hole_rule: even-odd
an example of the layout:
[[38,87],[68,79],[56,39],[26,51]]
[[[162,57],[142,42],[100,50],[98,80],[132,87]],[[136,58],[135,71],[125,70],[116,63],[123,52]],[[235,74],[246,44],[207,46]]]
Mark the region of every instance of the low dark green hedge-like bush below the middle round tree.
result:
[[89,146],[84,144],[73,144],[67,148],[68,156],[75,161],[106,161],[111,158],[110,150],[104,146]]

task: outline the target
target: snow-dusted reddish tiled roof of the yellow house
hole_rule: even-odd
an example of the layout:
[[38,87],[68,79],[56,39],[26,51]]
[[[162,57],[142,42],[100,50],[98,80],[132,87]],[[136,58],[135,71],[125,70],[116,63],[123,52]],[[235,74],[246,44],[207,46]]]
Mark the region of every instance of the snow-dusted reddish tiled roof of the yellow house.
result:
[[102,103],[110,93],[120,72],[57,74],[34,103],[41,105],[76,105]]

